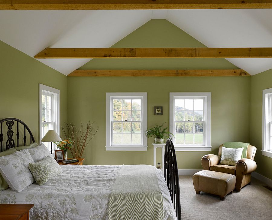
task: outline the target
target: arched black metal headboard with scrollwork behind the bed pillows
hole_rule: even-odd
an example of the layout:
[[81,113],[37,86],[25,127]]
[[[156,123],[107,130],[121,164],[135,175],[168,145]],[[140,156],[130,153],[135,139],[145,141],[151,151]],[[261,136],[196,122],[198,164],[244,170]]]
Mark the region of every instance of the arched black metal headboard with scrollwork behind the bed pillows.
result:
[[[16,132],[16,138],[17,138],[17,146],[19,146],[19,138],[20,138],[20,134],[19,134],[19,123],[22,124],[24,126],[24,145],[26,143],[26,134],[25,134],[25,130],[28,131],[28,133],[30,134],[30,143],[34,143],[34,137],[33,134],[31,133],[31,130],[28,128],[28,126],[21,120],[17,119],[17,118],[5,118],[0,120],[0,126],[1,126],[1,133],[0,133],[0,143],[1,143],[1,152],[3,151],[3,141],[4,141],[4,135],[3,135],[3,126],[7,126],[8,131],[7,131],[7,136],[8,136],[8,140],[6,141],[6,150],[15,147],[15,141],[13,139],[13,126],[14,126],[14,122],[17,122],[17,132]],[[16,126],[16,125],[15,125]]]

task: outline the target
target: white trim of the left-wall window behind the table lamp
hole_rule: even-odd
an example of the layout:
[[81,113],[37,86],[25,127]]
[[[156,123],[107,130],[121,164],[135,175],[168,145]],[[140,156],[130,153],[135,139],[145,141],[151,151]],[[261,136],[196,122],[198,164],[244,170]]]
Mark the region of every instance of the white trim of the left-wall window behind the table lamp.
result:
[[[55,110],[57,110],[57,114],[55,114],[55,120],[57,121],[56,126],[54,130],[57,132],[58,135],[60,135],[60,90],[55,89],[53,87],[49,87],[43,84],[39,83],[39,143],[41,143],[42,139],[42,94],[43,90],[49,94],[54,94],[55,95],[55,103],[58,103],[57,105],[55,104]],[[54,153],[54,149],[53,152]]]

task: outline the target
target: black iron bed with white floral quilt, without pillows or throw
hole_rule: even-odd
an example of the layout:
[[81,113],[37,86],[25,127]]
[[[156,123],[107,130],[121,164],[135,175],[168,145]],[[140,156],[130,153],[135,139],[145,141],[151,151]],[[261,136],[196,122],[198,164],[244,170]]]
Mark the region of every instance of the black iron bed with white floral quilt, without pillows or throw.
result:
[[[7,125],[6,150],[15,147],[15,142],[19,146],[20,131],[24,132],[23,145],[27,143],[26,131],[30,136],[30,143],[35,142],[31,130],[21,120],[7,118],[0,120],[0,125],[1,152],[4,148],[3,125]],[[17,141],[13,139],[13,127],[17,127]],[[164,173],[155,169],[158,186],[163,196],[163,219],[180,220],[179,180],[171,140],[167,140],[164,161]],[[122,166],[60,166],[63,172],[54,176],[43,186],[34,182],[21,192],[16,192],[11,188],[0,191],[0,203],[34,204],[30,210],[32,220],[108,219],[109,198]]]

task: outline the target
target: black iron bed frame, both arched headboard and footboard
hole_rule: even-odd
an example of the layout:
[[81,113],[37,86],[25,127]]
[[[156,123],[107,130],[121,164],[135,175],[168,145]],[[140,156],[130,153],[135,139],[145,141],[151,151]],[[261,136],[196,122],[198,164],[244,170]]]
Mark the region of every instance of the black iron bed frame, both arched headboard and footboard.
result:
[[[27,136],[26,136],[26,130],[30,134],[30,143],[34,143],[34,136],[31,132],[31,130],[28,128],[28,126],[21,120],[17,118],[5,118],[0,120],[0,143],[1,143],[1,152],[3,151],[3,123],[6,124],[8,127],[7,130],[7,136],[8,140],[5,143],[5,150],[8,150],[10,148],[15,147],[15,141],[13,139],[13,126],[14,122],[17,122],[17,132],[16,132],[16,138],[17,138],[17,146],[19,146],[20,142],[20,133],[19,133],[19,123],[24,126],[24,136],[23,141],[24,145],[26,145],[27,142]],[[166,181],[166,184],[168,186],[168,190],[170,192],[170,197],[174,205],[174,209],[176,210],[176,217],[178,220],[181,220],[181,212],[180,212],[180,184],[179,184],[179,175],[178,175],[178,169],[176,164],[176,153],[175,148],[170,139],[167,139],[165,144],[165,151],[164,151],[164,178]]]

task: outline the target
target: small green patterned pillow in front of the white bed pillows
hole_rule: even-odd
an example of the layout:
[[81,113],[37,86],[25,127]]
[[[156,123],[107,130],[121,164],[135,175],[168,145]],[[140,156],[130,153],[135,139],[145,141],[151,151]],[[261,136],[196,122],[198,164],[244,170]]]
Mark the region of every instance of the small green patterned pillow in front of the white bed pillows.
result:
[[53,176],[62,173],[60,165],[50,156],[37,163],[29,163],[29,169],[40,186],[44,185]]

